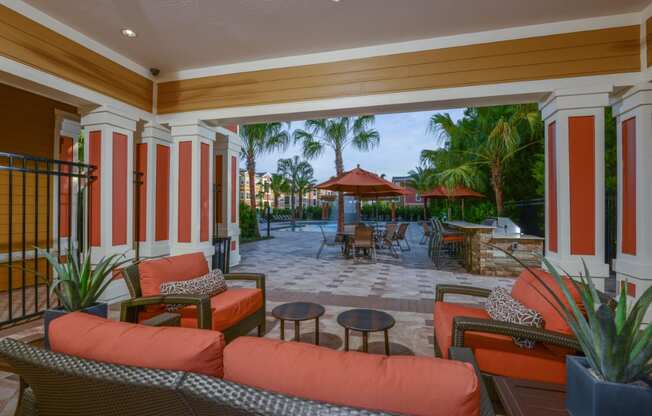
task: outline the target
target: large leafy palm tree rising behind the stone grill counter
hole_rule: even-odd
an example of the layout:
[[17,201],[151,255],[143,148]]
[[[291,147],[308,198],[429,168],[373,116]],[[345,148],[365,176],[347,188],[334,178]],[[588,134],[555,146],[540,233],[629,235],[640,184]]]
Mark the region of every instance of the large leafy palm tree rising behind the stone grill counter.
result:
[[530,104],[467,109],[458,122],[448,114],[435,114],[430,129],[446,140],[445,148],[426,150],[421,157],[435,166],[440,182],[448,187],[473,186],[481,175],[479,169],[487,168],[500,216],[504,208],[505,165],[536,143],[540,123],[538,110]]

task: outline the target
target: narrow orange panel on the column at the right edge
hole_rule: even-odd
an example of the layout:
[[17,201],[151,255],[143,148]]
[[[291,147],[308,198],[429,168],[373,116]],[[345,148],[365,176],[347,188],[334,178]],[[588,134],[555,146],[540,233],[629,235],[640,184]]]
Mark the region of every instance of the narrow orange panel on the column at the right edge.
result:
[[622,123],[622,242],[625,254],[636,255],[636,118]]

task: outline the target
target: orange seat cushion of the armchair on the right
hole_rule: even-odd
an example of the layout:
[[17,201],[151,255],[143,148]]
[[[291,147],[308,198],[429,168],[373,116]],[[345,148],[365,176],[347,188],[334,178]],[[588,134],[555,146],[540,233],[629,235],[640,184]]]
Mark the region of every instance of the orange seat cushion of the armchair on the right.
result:
[[[490,319],[484,309],[455,303],[435,302],[434,322],[437,345],[444,357],[453,339],[453,318],[468,316]],[[534,349],[520,348],[512,337],[481,332],[466,332],[464,346],[471,348],[483,372],[547,383],[566,383],[564,355],[541,343]]]

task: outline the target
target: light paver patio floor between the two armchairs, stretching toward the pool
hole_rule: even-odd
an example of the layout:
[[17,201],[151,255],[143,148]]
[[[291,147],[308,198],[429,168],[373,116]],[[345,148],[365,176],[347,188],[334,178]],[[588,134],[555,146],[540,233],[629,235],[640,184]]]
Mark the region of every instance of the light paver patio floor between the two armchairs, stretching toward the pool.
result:
[[[283,230],[272,235],[271,240],[242,245],[241,264],[232,269],[266,274],[266,336],[270,338],[279,338],[277,322],[270,313],[274,306],[289,301],[311,301],[326,308],[320,328],[324,346],[343,348],[344,330],[336,322],[340,312],[372,308],[384,310],[396,320],[396,326],[390,330],[392,353],[432,356],[432,310],[437,284],[509,288],[513,283],[511,278],[466,273],[454,260],[445,261],[441,270],[435,269],[426,254],[427,246],[418,244],[421,230],[415,225],[408,232],[410,251],[401,252],[396,259],[387,250],[379,250],[376,263],[345,259],[339,248],[332,247],[324,248],[321,257],[315,258],[321,244],[320,233]],[[450,299],[480,302],[465,296]],[[286,326],[286,339],[294,336],[290,328]],[[302,340],[312,342],[313,328],[312,322],[302,323]],[[361,337],[354,335],[352,348],[360,345]],[[382,351],[382,334],[372,334],[370,352]]]

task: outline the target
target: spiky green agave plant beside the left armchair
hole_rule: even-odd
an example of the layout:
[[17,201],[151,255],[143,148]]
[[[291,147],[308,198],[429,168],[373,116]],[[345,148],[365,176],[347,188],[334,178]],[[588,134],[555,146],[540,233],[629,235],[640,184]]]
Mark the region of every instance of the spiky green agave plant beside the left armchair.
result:
[[69,312],[82,311],[106,318],[108,305],[98,299],[111,283],[111,273],[117,267],[126,264],[123,254],[113,254],[102,258],[91,267],[90,252],[79,254],[69,251],[65,261],[59,257],[38,249],[54,270],[55,277],[50,284],[50,292],[59,300],[58,308],[47,309],[43,314],[45,329],[45,347],[49,348],[48,327],[50,322]]

